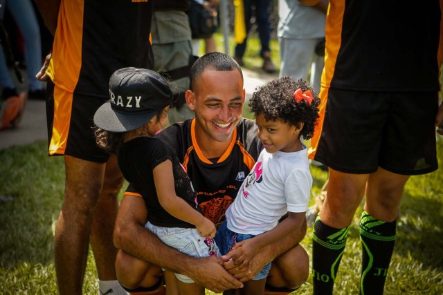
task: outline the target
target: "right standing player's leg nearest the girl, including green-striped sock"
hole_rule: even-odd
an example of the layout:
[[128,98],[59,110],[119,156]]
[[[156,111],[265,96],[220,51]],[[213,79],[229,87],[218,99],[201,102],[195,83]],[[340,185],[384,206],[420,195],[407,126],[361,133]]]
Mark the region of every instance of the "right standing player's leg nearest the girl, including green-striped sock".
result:
[[349,225],[363,199],[368,177],[368,174],[329,169],[327,197],[314,224],[312,238],[314,294],[332,294]]

